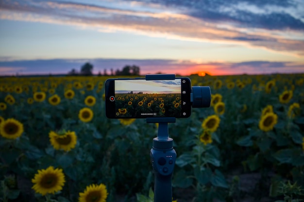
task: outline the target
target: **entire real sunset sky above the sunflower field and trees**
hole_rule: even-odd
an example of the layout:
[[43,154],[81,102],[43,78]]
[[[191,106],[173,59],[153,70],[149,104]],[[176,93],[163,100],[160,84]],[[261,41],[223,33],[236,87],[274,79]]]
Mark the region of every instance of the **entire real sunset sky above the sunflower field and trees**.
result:
[[0,0],[0,75],[304,73],[304,0]]

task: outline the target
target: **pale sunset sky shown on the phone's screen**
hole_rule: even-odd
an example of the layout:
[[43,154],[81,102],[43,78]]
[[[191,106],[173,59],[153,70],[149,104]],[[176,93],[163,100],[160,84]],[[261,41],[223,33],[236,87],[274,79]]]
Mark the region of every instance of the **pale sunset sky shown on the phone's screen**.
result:
[[115,93],[181,93],[181,79],[175,80],[115,80]]

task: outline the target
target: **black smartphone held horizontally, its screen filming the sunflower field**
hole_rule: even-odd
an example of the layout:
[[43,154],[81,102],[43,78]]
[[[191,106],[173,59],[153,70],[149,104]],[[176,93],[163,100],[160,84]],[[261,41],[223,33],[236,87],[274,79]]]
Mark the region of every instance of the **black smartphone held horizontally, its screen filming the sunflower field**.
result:
[[105,81],[105,113],[108,118],[187,118],[191,114],[191,81],[110,78]]

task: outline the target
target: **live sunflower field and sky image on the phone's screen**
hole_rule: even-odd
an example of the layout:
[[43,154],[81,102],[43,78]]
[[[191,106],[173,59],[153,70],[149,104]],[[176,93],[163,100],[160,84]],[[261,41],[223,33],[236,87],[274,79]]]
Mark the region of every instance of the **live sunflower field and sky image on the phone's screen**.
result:
[[181,79],[116,80],[118,117],[179,117],[182,111]]

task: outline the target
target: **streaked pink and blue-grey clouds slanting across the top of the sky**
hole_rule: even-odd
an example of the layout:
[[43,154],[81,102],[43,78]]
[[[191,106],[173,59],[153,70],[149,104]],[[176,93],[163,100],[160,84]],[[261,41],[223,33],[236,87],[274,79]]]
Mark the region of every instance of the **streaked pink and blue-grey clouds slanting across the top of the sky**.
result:
[[67,24],[97,31],[241,44],[304,55],[301,0],[0,1],[0,19]]

